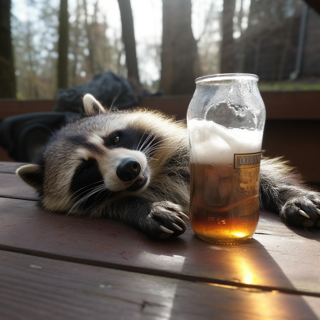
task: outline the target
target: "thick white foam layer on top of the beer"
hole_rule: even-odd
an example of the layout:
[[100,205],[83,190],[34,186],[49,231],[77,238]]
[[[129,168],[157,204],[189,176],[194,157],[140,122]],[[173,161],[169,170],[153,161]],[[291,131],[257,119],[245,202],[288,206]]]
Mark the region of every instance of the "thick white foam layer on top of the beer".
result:
[[227,129],[213,121],[188,121],[190,160],[199,164],[233,164],[234,154],[261,151],[262,132]]

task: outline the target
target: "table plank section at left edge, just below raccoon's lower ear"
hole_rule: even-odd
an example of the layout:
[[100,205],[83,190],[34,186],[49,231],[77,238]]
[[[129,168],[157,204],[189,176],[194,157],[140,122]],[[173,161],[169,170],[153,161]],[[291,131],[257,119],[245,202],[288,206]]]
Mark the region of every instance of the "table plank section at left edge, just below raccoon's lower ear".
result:
[[12,173],[0,173],[0,197],[37,200],[34,188]]

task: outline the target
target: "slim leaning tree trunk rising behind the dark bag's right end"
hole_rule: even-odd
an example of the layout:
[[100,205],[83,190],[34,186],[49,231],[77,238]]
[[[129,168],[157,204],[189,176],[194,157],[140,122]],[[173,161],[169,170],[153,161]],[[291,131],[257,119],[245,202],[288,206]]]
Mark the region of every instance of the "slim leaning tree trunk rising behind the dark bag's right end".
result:
[[118,0],[128,79],[140,84],[130,0]]

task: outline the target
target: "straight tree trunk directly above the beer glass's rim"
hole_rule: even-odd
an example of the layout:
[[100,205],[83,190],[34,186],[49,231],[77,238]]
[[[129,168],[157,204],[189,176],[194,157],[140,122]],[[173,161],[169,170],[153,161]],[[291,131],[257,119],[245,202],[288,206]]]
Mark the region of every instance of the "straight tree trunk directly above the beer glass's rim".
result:
[[221,41],[221,73],[232,73],[234,68],[233,16],[236,0],[223,0],[222,41]]

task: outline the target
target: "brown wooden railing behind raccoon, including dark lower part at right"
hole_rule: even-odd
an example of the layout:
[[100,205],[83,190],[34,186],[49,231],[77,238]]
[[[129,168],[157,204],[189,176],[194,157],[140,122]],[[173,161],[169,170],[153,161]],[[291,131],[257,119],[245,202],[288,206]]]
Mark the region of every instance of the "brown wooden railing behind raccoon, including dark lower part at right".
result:
[[[265,155],[284,156],[305,179],[320,183],[320,91],[261,92],[266,105]],[[145,97],[140,106],[185,119],[191,96]],[[54,100],[0,100],[0,120],[22,113],[52,111]],[[10,159],[3,149],[0,160]]]

